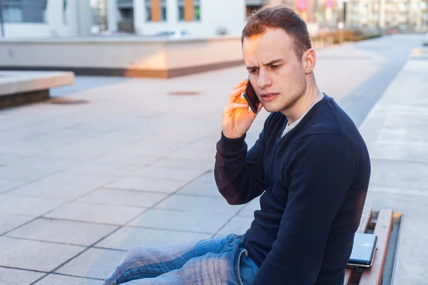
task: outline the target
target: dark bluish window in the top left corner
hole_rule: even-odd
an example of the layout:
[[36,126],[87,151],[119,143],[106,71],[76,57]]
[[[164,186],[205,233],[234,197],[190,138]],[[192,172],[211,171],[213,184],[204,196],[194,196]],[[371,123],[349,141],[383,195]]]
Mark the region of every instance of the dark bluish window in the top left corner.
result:
[[3,0],[3,17],[9,23],[45,23],[47,0]]

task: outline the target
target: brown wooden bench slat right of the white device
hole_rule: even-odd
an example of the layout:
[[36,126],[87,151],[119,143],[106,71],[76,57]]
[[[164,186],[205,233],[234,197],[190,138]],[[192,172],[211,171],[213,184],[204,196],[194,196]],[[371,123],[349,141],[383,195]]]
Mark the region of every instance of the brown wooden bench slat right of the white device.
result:
[[377,250],[374,253],[372,267],[363,271],[360,285],[380,285],[382,282],[389,237],[392,232],[393,214],[392,209],[382,209],[377,216],[374,227],[374,234],[377,235]]

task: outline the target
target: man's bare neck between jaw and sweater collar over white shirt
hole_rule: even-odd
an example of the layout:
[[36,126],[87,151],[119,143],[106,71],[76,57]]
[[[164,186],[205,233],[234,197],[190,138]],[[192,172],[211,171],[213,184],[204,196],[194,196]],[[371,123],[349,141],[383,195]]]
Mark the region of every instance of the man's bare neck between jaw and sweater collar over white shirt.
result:
[[283,110],[281,113],[287,117],[288,124],[294,123],[302,116],[312,105],[317,95],[321,93],[315,82],[308,84],[306,92],[290,108]]

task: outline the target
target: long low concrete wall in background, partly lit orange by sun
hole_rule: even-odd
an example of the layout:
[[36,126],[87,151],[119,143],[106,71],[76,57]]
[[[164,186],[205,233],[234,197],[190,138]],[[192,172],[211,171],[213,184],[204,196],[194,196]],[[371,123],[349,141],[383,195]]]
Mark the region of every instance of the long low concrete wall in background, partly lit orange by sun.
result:
[[242,64],[240,38],[138,37],[7,39],[0,69],[168,78]]

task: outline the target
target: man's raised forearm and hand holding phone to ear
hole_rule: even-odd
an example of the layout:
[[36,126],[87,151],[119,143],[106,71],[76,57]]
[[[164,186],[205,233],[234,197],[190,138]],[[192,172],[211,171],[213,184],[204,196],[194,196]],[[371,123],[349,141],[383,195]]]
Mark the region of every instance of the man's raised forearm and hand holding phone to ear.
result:
[[[222,133],[215,155],[215,182],[229,204],[244,204],[263,192],[263,155],[265,135],[247,154],[245,135],[258,113],[248,112],[241,93],[248,79],[235,86],[228,105],[223,109]],[[262,108],[258,106],[258,112]]]

